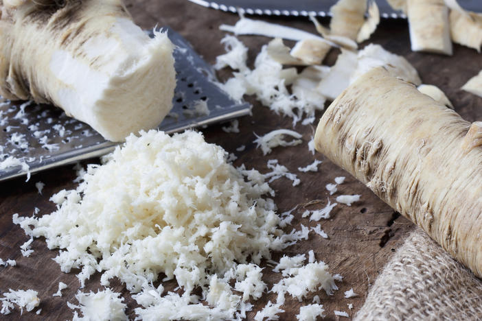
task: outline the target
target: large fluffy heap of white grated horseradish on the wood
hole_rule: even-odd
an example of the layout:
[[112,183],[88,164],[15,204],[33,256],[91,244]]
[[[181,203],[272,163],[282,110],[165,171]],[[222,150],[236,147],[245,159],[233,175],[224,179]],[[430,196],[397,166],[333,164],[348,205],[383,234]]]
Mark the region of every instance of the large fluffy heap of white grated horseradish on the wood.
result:
[[[96,271],[102,285],[114,277],[126,283],[144,320],[242,318],[251,309],[248,298],[266,289],[261,259],[308,238],[306,226],[286,235],[279,230],[275,204],[265,198],[274,191],[263,174],[236,169],[200,133],[131,135],[103,163],[80,171],[77,189],[52,196],[54,213],[14,215],[14,222],[60,248],[55,261],[63,272],[81,269],[82,287]],[[272,180],[289,176],[279,166],[271,162],[281,173]],[[176,279],[182,296],[152,287],[161,273],[163,281]],[[192,295],[196,287],[205,300]],[[88,302],[87,294],[78,295]]]

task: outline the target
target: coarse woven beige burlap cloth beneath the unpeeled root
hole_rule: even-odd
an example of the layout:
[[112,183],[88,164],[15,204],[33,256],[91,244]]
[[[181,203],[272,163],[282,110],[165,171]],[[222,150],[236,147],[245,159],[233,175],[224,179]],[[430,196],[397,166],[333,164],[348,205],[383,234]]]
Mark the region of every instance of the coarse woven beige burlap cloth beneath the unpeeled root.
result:
[[354,320],[482,320],[482,281],[417,229]]

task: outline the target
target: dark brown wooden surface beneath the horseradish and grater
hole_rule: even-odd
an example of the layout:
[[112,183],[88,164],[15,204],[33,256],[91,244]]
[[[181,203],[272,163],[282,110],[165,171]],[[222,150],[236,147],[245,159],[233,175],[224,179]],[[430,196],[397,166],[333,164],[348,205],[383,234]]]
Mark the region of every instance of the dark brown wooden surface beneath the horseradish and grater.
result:
[[[236,23],[238,17],[234,14],[218,12],[202,8],[185,0],[128,0],[130,12],[135,21],[144,28],[151,28],[156,24],[170,25],[180,32],[187,40],[190,40],[194,48],[204,58],[214,63],[216,56],[223,53],[219,41],[224,36],[218,30],[220,23]],[[266,18],[275,23],[286,23],[293,27],[299,27],[314,32],[314,28],[307,19],[297,18]],[[326,22],[326,21],[325,21]],[[242,36],[240,37],[249,46],[251,61],[260,47],[268,39],[264,37]],[[455,105],[455,109],[462,117],[469,121],[482,119],[482,99],[464,93],[459,88],[482,69],[482,60],[479,54],[465,47],[456,45],[452,57],[437,56],[428,53],[413,53],[410,51],[409,32],[406,21],[382,21],[370,42],[380,43],[386,49],[405,56],[420,73],[422,80],[428,84],[435,84],[445,91]],[[336,53],[333,52],[327,59],[327,63],[333,63]],[[228,73],[224,71],[222,77]],[[279,179],[272,186],[276,191],[275,202],[279,212],[288,211],[295,206],[296,219],[294,226],[305,224],[314,226],[316,222],[308,222],[302,219],[303,204],[319,200],[308,209],[319,209],[326,204],[328,193],[325,185],[333,182],[336,176],[347,176],[346,182],[339,187],[340,193],[362,195],[361,202],[348,206],[336,206],[332,212],[332,218],[322,220],[323,230],[330,239],[322,239],[314,233],[310,233],[308,241],[301,241],[297,245],[288,248],[283,254],[308,253],[314,250],[319,260],[325,261],[330,266],[332,273],[341,274],[342,283],[338,283],[340,289],[333,296],[326,296],[323,291],[317,293],[321,303],[325,306],[327,320],[337,320],[334,310],[347,311],[354,316],[356,311],[363,305],[363,301],[369,287],[381,272],[383,266],[393,252],[403,242],[406,233],[413,229],[413,224],[394,213],[389,206],[380,201],[360,182],[346,174],[321,154],[312,156],[308,152],[307,143],[310,135],[314,132],[314,126],[297,126],[294,128],[303,134],[304,142],[296,147],[277,148],[268,156],[263,156],[261,150],[257,150],[253,144],[257,134],[264,134],[277,128],[291,128],[291,119],[274,115],[268,108],[261,106],[253,99],[253,116],[240,119],[240,134],[227,134],[221,130],[221,126],[211,126],[203,130],[207,141],[217,143],[229,152],[233,152],[239,158],[235,165],[244,163],[247,167],[266,172],[266,161],[277,158],[279,163],[286,165],[288,169],[297,172],[297,167],[306,166],[317,158],[323,160],[317,173],[297,173],[301,178],[301,185],[292,187],[290,181]],[[317,115],[320,116],[320,115]],[[246,145],[246,150],[236,152],[240,145]],[[90,162],[97,162],[93,159]],[[87,162],[86,162],[87,163]],[[75,272],[65,274],[60,272],[57,263],[51,259],[57,251],[50,251],[45,246],[43,239],[36,239],[32,243],[35,250],[31,257],[22,257],[19,246],[27,237],[23,231],[12,224],[12,214],[19,213],[21,216],[32,215],[34,207],[41,210],[40,215],[54,210],[54,204],[49,202],[49,197],[61,189],[75,187],[72,180],[75,172],[72,166],[45,171],[32,176],[30,182],[24,182],[24,178],[2,182],[0,185],[0,258],[16,259],[17,266],[14,268],[0,268],[0,291],[12,289],[35,289],[41,298],[42,312],[39,316],[24,312],[20,316],[18,309],[10,316],[1,316],[5,320],[69,320],[72,312],[67,307],[67,301],[76,302],[73,298],[79,288]],[[39,195],[34,187],[35,182],[45,182],[43,195]],[[332,198],[333,200],[333,198]],[[291,227],[287,228],[287,231]],[[277,260],[282,253],[275,253],[273,259]],[[269,271],[266,269],[265,271]],[[265,281],[273,283],[279,279],[279,274],[265,273]],[[69,285],[63,291],[62,298],[54,298],[51,295],[57,290],[58,282],[62,281]],[[95,274],[91,281],[87,282],[84,291],[100,289],[99,275]],[[173,289],[174,283],[167,286]],[[343,298],[343,292],[353,288],[358,294],[356,298]],[[113,283],[113,289],[122,292],[130,308],[130,317],[135,315],[132,311],[135,302],[130,299],[128,292],[119,283]],[[286,313],[280,315],[281,320],[292,320],[299,311],[299,307],[311,303],[312,295],[305,302],[297,302],[288,298],[284,309]],[[275,300],[273,294],[266,294],[255,305],[255,309],[249,313],[251,320],[255,312],[263,307],[268,300]],[[347,304],[352,303],[354,309],[347,309]]]

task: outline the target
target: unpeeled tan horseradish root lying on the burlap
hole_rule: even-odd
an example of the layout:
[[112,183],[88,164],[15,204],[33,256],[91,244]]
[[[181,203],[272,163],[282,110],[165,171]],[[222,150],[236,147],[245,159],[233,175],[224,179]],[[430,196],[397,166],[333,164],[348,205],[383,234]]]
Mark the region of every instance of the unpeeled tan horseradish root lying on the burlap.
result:
[[481,132],[377,68],[334,100],[314,141],[481,277]]

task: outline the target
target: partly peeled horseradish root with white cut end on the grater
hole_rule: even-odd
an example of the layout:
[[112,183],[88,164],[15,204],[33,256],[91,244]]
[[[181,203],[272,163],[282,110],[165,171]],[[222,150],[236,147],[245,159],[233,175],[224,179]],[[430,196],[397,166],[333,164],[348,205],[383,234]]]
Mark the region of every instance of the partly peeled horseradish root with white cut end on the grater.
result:
[[0,1],[0,94],[59,106],[111,141],[172,108],[173,45],[120,0]]

